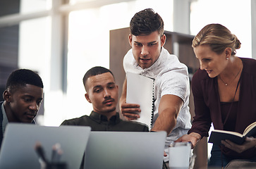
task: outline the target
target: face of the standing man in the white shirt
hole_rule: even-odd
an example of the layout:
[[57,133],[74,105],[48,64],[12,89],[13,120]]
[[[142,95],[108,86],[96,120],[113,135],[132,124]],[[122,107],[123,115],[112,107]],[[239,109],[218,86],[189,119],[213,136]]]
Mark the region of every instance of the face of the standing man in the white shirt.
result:
[[150,68],[157,61],[165,40],[166,36],[160,36],[158,31],[154,31],[150,35],[129,35],[133,56],[142,69]]

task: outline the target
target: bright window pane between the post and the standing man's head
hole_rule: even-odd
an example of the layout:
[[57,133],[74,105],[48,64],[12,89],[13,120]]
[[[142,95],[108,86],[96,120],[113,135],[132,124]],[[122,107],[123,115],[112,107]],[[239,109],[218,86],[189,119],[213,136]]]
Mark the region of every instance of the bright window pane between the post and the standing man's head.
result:
[[169,0],[130,1],[69,14],[65,118],[90,114],[92,104],[85,99],[83,87],[85,72],[96,65],[109,68],[109,30],[129,27],[133,15],[145,8],[153,8],[163,18],[165,30],[173,30],[173,1]]

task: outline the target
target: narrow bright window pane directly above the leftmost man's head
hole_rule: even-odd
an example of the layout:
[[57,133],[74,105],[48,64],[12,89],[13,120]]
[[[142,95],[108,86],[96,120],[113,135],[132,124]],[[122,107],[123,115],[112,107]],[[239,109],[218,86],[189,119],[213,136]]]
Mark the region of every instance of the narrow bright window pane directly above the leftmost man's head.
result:
[[[50,18],[24,20],[20,23],[18,45],[18,68],[27,68],[37,72],[44,82],[44,104],[42,104],[35,120],[43,124],[44,107],[48,103],[47,86],[49,86],[50,63]],[[47,93],[47,94],[45,94]]]

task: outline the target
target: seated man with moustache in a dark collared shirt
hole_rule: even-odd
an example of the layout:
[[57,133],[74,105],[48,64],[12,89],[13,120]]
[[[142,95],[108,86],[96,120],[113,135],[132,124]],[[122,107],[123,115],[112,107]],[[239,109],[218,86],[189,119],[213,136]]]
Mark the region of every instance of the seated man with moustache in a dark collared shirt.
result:
[[116,112],[118,86],[109,69],[97,66],[83,77],[85,98],[92,104],[93,111],[80,118],[64,120],[61,125],[90,126],[92,131],[147,132],[148,127],[140,123],[124,121]]

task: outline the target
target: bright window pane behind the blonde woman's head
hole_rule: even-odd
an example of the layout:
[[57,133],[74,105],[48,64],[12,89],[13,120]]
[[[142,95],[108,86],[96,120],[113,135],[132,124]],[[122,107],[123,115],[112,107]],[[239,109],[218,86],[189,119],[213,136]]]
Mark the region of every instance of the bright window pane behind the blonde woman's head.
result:
[[240,40],[236,56],[252,57],[250,0],[197,0],[191,3],[190,32],[197,33],[209,23],[220,23]]

